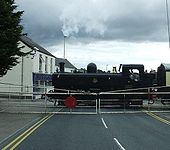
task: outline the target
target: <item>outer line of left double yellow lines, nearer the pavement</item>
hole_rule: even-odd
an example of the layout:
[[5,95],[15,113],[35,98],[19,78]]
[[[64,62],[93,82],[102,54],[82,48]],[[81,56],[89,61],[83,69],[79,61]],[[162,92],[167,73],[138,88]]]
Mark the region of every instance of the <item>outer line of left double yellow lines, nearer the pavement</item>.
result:
[[9,148],[13,143],[15,143],[17,140],[19,140],[22,136],[24,136],[27,132],[29,132],[30,130],[32,130],[36,125],[38,125],[40,122],[42,122],[43,120],[45,120],[46,118],[48,118],[49,115],[43,117],[40,121],[38,121],[36,124],[34,124],[33,126],[31,126],[29,129],[27,129],[24,133],[22,133],[20,136],[18,136],[15,140],[13,140],[11,143],[9,143],[8,145],[6,145],[4,148],[2,148],[2,150],[6,150],[7,148]]

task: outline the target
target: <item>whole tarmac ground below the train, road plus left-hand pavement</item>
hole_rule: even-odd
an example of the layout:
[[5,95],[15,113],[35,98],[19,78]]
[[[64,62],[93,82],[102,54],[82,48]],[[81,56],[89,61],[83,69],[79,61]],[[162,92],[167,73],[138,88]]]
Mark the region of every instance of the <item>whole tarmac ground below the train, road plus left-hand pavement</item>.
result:
[[161,112],[157,111],[157,104],[146,106],[145,110],[101,108],[101,112],[95,107],[67,109],[44,101],[2,102],[0,106],[3,150],[169,150],[170,147],[169,106]]

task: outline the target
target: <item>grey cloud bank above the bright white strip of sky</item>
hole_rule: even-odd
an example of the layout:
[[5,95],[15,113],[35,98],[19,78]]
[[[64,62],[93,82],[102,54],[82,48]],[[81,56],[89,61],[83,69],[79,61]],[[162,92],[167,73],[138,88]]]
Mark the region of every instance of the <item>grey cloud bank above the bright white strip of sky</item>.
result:
[[[25,31],[40,43],[61,42],[63,34],[81,41],[166,41],[162,0],[16,0],[24,10]],[[83,40],[84,39],[84,40]]]

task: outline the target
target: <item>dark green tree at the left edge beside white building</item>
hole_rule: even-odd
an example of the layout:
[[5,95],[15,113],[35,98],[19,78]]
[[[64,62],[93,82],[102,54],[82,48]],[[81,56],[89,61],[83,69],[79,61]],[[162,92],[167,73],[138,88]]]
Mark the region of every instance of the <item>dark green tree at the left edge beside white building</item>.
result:
[[16,10],[14,0],[0,0],[0,77],[19,63],[23,56],[19,40],[23,31],[20,24],[23,11]]

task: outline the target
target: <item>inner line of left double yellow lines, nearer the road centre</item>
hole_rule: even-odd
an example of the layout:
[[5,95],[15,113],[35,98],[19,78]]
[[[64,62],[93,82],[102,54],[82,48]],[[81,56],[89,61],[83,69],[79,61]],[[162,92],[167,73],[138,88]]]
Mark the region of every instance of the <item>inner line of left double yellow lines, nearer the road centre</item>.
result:
[[10,148],[10,150],[14,150],[22,141],[24,141],[28,136],[30,136],[37,128],[39,128],[43,123],[45,123],[48,119],[50,119],[54,114],[48,116],[44,121],[38,124],[35,128],[33,128],[30,132],[28,132],[21,140],[19,140],[14,146]]

